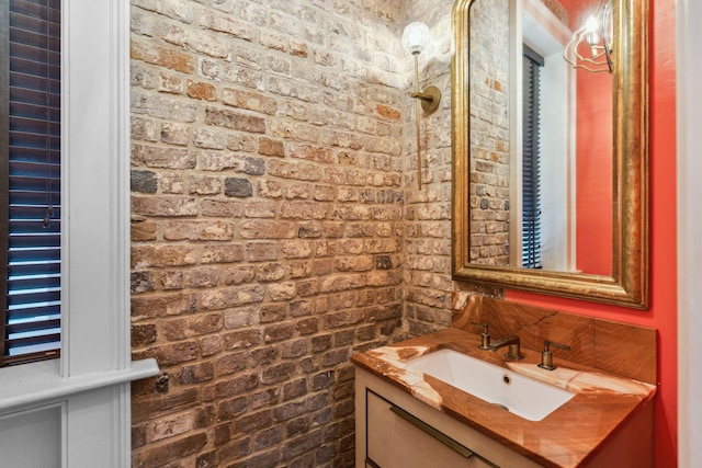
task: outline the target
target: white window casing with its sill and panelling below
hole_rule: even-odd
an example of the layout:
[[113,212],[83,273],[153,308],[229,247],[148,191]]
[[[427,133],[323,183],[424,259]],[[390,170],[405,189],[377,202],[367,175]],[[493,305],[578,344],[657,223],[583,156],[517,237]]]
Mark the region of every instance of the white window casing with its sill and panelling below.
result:
[[29,443],[58,459],[8,466],[128,467],[129,383],[158,373],[131,361],[129,2],[63,0],[61,15],[61,357],[0,369],[0,460],[39,414]]

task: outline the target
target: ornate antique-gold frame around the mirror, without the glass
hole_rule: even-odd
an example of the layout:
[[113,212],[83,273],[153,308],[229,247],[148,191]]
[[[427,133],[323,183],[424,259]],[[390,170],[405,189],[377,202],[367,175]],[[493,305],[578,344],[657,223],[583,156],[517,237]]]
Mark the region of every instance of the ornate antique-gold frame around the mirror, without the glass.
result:
[[612,275],[547,272],[469,263],[468,25],[474,0],[453,7],[453,253],[455,281],[487,283],[636,309],[648,308],[648,1],[613,0]]

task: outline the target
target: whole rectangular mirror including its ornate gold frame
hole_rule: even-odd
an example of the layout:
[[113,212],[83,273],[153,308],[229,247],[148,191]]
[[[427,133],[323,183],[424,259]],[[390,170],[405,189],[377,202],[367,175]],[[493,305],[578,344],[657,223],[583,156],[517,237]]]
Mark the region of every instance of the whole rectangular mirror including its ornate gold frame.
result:
[[644,3],[456,1],[454,278],[646,307]]

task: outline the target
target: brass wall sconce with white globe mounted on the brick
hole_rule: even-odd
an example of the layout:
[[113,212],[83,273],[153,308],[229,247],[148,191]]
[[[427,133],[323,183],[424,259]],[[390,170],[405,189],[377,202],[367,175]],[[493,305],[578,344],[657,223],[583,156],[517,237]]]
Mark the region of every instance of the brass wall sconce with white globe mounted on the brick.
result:
[[419,126],[419,107],[427,113],[432,113],[439,107],[441,91],[434,85],[419,91],[419,54],[429,45],[429,27],[424,23],[414,22],[405,26],[403,32],[403,47],[415,56],[415,114],[417,117],[417,184],[421,190],[421,135]]

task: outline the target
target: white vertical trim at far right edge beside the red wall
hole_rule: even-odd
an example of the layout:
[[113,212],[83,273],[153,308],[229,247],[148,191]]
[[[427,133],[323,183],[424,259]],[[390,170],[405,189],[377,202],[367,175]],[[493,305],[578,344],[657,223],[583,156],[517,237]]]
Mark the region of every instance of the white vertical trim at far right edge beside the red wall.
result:
[[678,0],[677,172],[678,172],[678,464],[702,461],[702,19],[700,0]]

